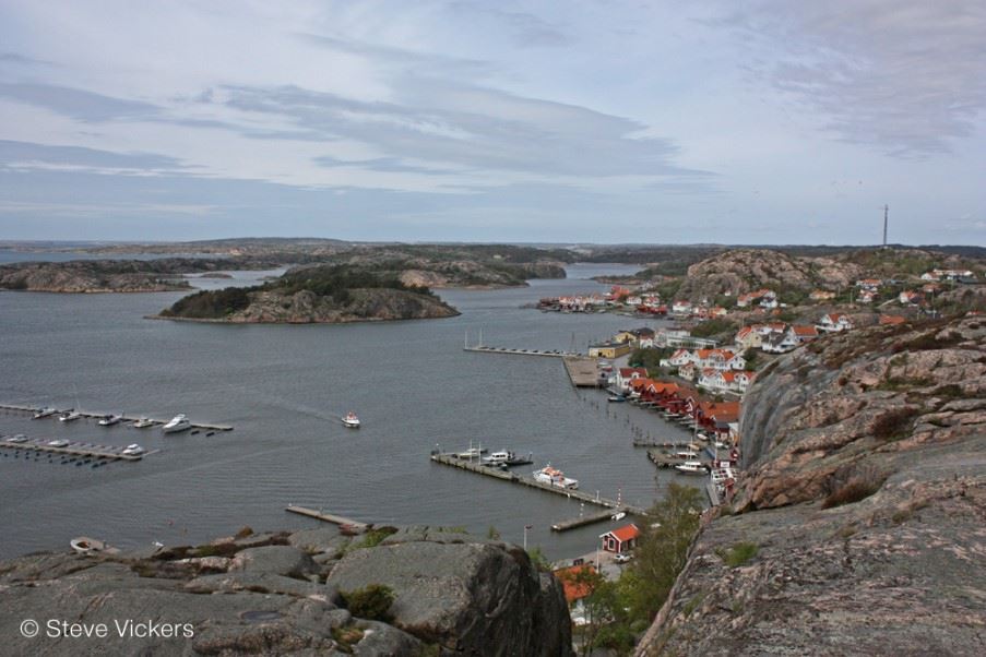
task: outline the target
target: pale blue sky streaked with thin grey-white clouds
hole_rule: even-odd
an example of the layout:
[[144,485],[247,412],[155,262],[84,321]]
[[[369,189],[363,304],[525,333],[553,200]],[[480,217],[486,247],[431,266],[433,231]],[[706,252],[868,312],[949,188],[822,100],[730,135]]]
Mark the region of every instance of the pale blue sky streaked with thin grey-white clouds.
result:
[[0,239],[986,246],[982,0],[0,0]]

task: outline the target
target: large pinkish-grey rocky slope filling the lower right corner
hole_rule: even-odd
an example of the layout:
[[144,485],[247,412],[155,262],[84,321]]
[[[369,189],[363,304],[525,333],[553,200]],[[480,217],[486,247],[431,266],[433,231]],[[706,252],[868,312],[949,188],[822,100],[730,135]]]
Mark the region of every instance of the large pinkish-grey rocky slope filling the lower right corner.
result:
[[986,653],[986,323],[867,329],[770,369],[737,495],[639,654]]

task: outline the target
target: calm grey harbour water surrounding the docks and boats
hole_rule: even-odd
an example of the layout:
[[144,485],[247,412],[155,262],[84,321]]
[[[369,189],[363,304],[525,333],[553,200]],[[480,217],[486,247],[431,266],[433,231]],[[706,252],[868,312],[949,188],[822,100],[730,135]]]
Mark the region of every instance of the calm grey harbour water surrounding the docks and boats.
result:
[[[287,504],[376,523],[495,526],[553,558],[594,549],[605,524],[557,535],[578,503],[446,466],[428,454],[483,445],[534,452],[587,491],[648,505],[674,475],[631,446],[632,427],[687,437],[653,414],[574,391],[560,360],[472,354],[489,345],[585,349],[644,322],[521,309],[544,296],[603,289],[589,276],[633,267],[574,265],[523,289],[444,290],[458,318],[379,324],[223,326],[143,319],[181,294],[0,292],[0,402],[76,406],[231,423],[188,433],[60,425],[0,411],[0,433],[161,450],[135,464],[88,466],[0,456],[0,557],[66,549],[73,536],[121,547],[197,542],[235,531],[313,526]],[[246,284],[265,273],[237,273]],[[226,279],[195,282],[209,287]],[[651,322],[651,325],[655,325]],[[346,430],[353,409],[364,428]],[[7,453],[5,450],[0,452]],[[534,467],[522,468],[528,474]],[[595,511],[586,509],[586,512]]]

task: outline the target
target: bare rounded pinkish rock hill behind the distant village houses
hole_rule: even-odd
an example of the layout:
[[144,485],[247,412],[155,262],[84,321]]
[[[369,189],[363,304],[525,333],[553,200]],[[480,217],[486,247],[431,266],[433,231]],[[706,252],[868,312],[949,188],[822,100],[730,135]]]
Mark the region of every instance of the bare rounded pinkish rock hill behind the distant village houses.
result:
[[809,264],[800,259],[767,249],[739,249],[688,267],[678,296],[699,301],[725,294],[738,296],[759,288],[807,289],[815,280]]

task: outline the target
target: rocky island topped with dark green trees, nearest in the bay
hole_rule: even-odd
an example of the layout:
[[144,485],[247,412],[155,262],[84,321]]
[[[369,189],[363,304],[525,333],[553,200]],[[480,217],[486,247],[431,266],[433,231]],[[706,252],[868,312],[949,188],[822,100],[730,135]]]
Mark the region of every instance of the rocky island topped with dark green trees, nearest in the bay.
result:
[[427,287],[393,273],[346,265],[296,267],[254,287],[203,290],[158,315],[228,323],[345,323],[448,318],[459,314]]

